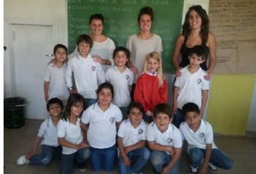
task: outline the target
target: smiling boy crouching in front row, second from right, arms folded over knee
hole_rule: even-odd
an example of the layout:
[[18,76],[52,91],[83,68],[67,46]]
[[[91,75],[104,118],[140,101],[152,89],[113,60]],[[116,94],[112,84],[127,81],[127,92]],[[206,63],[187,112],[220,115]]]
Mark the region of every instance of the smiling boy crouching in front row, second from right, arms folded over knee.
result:
[[150,147],[150,162],[157,174],[179,174],[182,151],[182,136],[171,124],[171,107],[165,103],[155,106],[154,122],[146,129],[146,139]]

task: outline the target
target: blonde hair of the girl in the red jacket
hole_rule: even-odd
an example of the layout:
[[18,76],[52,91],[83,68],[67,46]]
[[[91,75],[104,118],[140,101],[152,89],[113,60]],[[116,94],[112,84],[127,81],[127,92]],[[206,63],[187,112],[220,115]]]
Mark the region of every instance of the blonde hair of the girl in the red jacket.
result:
[[162,86],[163,85],[163,68],[162,68],[161,55],[156,51],[153,51],[153,52],[147,54],[146,59],[145,59],[145,63],[144,63],[143,72],[147,71],[147,63],[148,63],[149,59],[154,59],[159,63],[159,66],[157,68],[157,73],[158,73],[157,76],[158,76],[159,86]]

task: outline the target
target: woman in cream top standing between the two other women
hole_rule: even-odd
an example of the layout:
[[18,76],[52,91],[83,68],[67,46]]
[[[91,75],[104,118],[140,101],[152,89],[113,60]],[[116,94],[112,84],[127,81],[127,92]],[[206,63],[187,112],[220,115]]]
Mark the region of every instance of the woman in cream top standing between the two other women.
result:
[[[157,51],[159,54],[163,51],[162,39],[160,36],[150,31],[154,21],[154,12],[150,7],[143,7],[138,14],[138,24],[140,31],[132,36],[126,42],[126,47],[130,51],[130,60],[127,65],[134,72],[135,82],[142,72],[146,55]],[[132,98],[135,84],[132,89]]]

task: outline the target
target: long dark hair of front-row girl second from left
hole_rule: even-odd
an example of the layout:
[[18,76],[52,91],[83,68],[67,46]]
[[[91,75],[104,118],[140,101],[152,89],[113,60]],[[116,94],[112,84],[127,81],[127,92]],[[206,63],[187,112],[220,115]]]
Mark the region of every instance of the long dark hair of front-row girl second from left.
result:
[[[65,121],[68,120],[70,116],[71,107],[77,105],[77,103],[81,103],[83,105],[83,111],[84,111],[85,104],[86,104],[85,98],[81,94],[70,94],[67,102],[67,106],[62,115],[62,119],[64,119]],[[82,113],[83,112],[81,112],[81,114]]]

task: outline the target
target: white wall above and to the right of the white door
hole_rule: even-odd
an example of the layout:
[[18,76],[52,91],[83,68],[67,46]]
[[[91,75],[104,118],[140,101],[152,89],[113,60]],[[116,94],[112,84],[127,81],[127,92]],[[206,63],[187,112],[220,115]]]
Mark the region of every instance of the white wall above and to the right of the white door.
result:
[[68,45],[67,0],[4,0],[4,20],[55,20],[57,43]]

